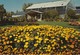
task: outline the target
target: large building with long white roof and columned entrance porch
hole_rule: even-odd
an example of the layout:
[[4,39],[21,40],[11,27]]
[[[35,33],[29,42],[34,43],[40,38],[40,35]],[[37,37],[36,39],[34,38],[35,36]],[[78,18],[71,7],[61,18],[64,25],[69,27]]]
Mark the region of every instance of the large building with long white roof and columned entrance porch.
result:
[[29,6],[26,9],[29,11],[27,12],[28,18],[30,18],[30,16],[32,17],[31,14],[35,13],[34,17],[36,18],[38,14],[39,19],[41,20],[43,15],[42,13],[44,11],[55,9],[60,15],[63,15],[68,9],[75,9],[75,7],[72,5],[71,0],[62,0],[56,2],[37,3]]

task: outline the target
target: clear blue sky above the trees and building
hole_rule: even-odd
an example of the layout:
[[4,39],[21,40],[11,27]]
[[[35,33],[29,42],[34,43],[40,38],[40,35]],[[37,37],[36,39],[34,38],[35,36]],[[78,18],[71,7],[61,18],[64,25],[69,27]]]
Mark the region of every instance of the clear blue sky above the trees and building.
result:
[[[41,3],[41,2],[52,2],[56,0],[0,0],[0,4],[4,4],[4,8],[7,11],[16,12],[22,11],[22,6],[24,3]],[[74,5],[80,6],[80,0],[72,0]]]

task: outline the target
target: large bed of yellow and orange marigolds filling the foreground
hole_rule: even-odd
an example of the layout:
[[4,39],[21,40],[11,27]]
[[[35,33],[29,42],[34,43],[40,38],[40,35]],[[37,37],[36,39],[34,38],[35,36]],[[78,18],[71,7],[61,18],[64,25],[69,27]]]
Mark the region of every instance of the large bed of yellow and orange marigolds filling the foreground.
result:
[[80,32],[62,26],[12,26],[0,31],[0,54],[79,54]]

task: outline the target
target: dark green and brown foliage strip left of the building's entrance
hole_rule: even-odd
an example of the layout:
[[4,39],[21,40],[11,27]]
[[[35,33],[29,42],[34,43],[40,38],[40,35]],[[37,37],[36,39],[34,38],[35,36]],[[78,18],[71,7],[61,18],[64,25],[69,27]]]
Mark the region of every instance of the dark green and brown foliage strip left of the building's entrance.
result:
[[15,17],[15,18],[4,18],[0,21],[0,25],[39,25],[34,18],[33,19],[26,19],[24,16],[22,17]]

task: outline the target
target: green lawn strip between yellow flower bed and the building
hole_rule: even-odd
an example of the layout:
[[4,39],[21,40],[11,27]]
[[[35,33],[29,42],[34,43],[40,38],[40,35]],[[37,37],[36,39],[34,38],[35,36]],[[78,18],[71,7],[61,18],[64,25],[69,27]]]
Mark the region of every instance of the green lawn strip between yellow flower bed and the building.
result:
[[56,21],[48,21],[48,22],[46,22],[46,21],[39,21],[38,23],[41,24],[41,25],[52,25],[52,26],[58,25],[58,26],[63,26],[63,27],[76,28],[77,30],[80,31],[80,26],[71,26],[71,25],[69,25],[68,22],[56,22]]

